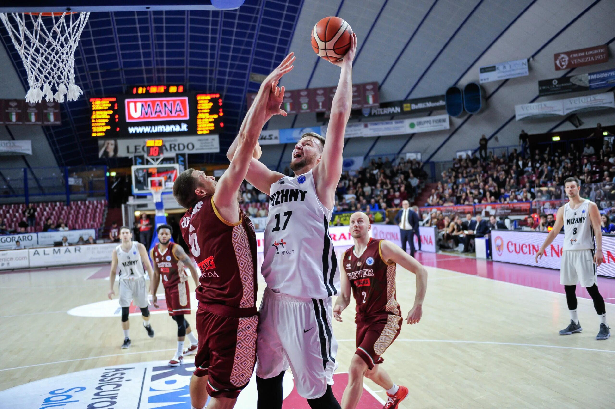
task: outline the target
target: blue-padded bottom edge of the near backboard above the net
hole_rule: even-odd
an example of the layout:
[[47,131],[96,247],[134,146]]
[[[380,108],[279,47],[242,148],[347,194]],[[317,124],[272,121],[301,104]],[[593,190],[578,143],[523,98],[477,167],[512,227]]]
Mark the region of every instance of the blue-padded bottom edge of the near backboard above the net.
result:
[[232,10],[244,0],[21,0],[1,2],[0,13],[109,12],[146,10]]

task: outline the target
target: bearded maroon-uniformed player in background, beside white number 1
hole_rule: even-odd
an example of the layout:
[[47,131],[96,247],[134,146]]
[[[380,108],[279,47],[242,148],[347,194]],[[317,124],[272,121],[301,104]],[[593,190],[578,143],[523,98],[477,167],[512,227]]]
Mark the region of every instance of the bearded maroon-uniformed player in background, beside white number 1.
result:
[[[188,276],[184,272],[184,266],[190,270],[195,283],[199,282],[199,273],[184,249],[171,241],[173,229],[169,224],[158,226],[156,234],[158,235],[158,244],[149,250],[149,258],[152,259],[154,264],[151,287],[152,304],[158,308],[156,291],[162,277],[167,309],[169,315],[177,323],[177,351],[169,361],[169,366],[178,367],[183,362],[184,356],[196,354],[199,346],[190,324],[184,317],[186,314],[190,314],[190,288],[188,287]],[[184,350],[186,336],[188,336],[190,346]]]

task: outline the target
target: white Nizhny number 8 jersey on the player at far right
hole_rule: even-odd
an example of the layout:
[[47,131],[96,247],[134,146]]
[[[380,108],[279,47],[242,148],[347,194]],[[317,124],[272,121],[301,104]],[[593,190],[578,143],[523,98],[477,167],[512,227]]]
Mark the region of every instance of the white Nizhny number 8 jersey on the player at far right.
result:
[[593,250],[593,228],[589,219],[589,204],[585,199],[576,208],[570,208],[570,202],[564,205],[564,250]]

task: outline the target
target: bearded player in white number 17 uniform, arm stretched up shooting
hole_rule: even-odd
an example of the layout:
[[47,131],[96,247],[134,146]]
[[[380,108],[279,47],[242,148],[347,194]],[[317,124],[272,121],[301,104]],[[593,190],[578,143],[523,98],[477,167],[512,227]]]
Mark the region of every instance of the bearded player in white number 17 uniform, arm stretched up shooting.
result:
[[[346,56],[333,63],[341,74],[331,105],[327,143],[317,133],[304,133],[290,162],[295,177],[273,172],[256,159],[250,162],[246,176],[270,196],[261,268],[267,288],[256,339],[259,409],[282,408],[282,378],[289,367],[297,391],[311,408],[339,408],[331,391],[338,347],[331,328],[331,296],[338,293],[339,270],[328,225],[342,171],[356,47],[352,34]],[[268,108],[270,116],[280,112],[279,104],[273,105]],[[237,140],[229,148],[229,159],[236,145]]]

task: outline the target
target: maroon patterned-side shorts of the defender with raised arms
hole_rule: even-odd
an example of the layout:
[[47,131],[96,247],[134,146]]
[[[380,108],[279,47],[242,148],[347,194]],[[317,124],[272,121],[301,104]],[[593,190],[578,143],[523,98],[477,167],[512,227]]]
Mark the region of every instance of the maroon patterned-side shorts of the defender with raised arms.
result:
[[207,394],[211,397],[236,399],[250,381],[256,363],[258,315],[227,317],[208,309],[213,309],[212,304],[199,303],[196,313],[199,351],[194,358],[194,375],[209,376]]

